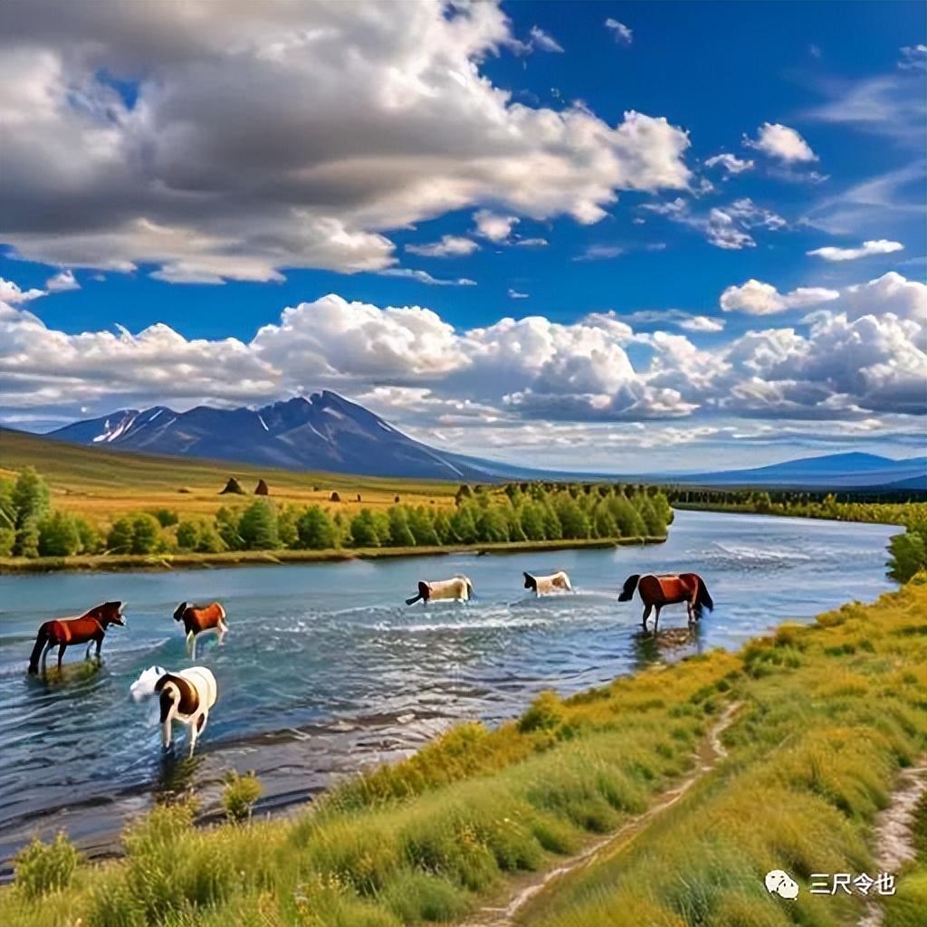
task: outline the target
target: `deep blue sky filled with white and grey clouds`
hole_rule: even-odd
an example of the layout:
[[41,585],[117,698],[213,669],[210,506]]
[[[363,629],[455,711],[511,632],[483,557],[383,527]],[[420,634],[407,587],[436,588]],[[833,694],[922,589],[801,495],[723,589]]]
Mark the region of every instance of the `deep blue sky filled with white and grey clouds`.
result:
[[0,424],[334,389],[438,447],[909,457],[921,3],[12,0]]

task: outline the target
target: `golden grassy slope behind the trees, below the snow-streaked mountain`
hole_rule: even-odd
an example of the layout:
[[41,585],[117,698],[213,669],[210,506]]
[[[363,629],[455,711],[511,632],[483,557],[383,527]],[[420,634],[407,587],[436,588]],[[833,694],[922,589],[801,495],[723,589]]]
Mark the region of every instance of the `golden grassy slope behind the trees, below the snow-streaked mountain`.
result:
[[[328,473],[297,473],[222,461],[188,460],[107,451],[51,441],[21,432],[0,432],[0,476],[34,466],[52,487],[53,505],[96,522],[139,509],[165,507],[181,514],[214,514],[249,496],[220,496],[229,476],[250,492],[262,477],[278,502],[319,502],[334,513],[402,502],[452,506],[456,483]],[[318,489],[316,489],[318,488]],[[180,489],[189,490],[181,492]],[[333,490],[342,502],[329,504]],[[362,503],[356,501],[357,494]]]

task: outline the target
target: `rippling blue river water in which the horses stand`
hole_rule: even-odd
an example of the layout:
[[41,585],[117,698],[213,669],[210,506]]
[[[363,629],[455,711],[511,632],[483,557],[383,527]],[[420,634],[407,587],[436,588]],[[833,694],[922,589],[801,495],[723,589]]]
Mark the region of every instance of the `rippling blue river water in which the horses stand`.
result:
[[[403,756],[452,721],[512,717],[543,689],[577,692],[659,659],[736,648],[786,618],[808,619],[893,588],[895,527],[678,512],[649,547],[450,555],[173,573],[0,577],[0,860],[33,832],[65,828],[91,854],[158,794],[194,785],[215,805],[223,774],[255,769],[261,807],[304,801],[367,763]],[[521,572],[562,567],[577,592],[535,600]],[[696,633],[685,607],[641,634],[641,603],[617,603],[630,573],[694,570],[716,609]],[[411,608],[419,578],[465,573],[472,603]],[[126,603],[102,667],[71,648],[64,672],[30,679],[35,631],[53,616]],[[221,600],[229,633],[205,636],[197,663],[219,682],[193,762],[163,756],[158,708],[129,686],[157,664],[188,666],[181,600]],[[54,659],[49,661],[54,666]]]

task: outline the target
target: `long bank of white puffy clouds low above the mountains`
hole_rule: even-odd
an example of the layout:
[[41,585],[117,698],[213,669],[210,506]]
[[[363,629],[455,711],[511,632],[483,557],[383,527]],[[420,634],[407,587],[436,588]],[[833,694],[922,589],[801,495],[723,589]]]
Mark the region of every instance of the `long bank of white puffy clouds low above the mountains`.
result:
[[[21,292],[7,287],[14,296]],[[927,286],[886,273],[838,292],[751,280],[722,309],[814,308],[801,328],[747,331],[679,310],[540,315],[456,329],[422,306],[331,294],[291,306],[250,341],[188,339],[164,324],[70,334],[0,303],[0,406],[22,415],[167,402],[257,403],[319,387],[377,393],[444,425],[638,422],[699,415],[862,422],[927,412]],[[665,330],[666,326],[679,333]],[[401,418],[400,418],[401,421]]]

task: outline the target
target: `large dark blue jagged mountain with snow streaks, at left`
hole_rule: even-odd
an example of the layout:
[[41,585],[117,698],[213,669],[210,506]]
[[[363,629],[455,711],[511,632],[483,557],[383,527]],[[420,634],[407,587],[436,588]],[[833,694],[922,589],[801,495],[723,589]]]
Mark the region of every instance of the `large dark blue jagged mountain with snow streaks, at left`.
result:
[[46,437],[118,451],[362,476],[479,481],[519,473],[514,467],[429,448],[328,390],[257,410],[121,409],[65,425]]

